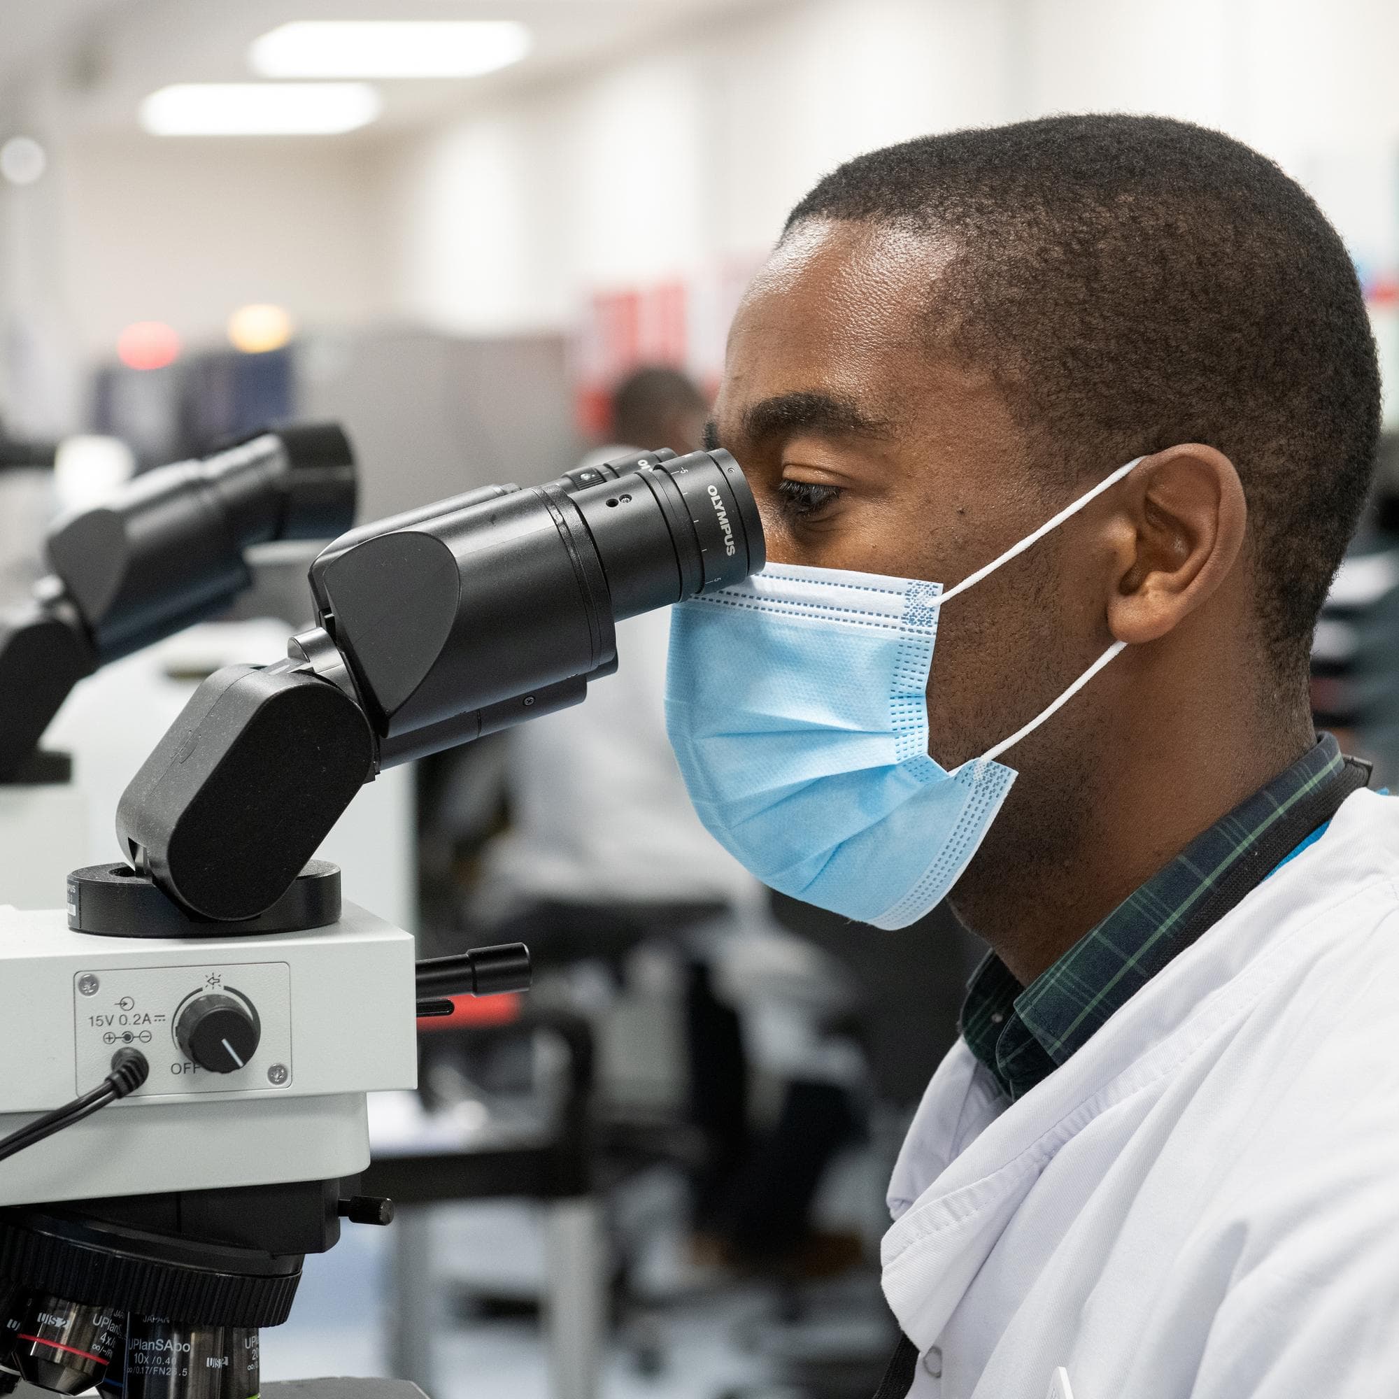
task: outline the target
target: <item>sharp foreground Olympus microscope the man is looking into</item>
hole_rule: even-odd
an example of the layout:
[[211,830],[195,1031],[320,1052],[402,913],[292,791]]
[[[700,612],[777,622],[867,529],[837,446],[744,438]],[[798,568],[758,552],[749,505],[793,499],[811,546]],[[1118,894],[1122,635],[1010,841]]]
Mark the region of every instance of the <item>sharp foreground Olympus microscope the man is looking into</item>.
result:
[[259,1392],[305,1255],[392,1217],[347,1184],[365,1094],[416,1086],[445,997],[529,981],[519,944],[416,961],[320,841],[381,771],[582,701],[617,621],[762,562],[722,450],[485,487],[316,558],[316,624],[210,676],[133,778],[125,859],[0,915],[0,1379]]

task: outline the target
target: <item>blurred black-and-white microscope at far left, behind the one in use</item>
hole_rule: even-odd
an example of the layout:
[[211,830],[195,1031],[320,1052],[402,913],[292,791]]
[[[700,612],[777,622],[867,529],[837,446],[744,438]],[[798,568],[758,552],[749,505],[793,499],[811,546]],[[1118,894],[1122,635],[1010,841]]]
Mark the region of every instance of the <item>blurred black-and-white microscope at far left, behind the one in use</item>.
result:
[[253,546],[334,539],[354,509],[344,434],[302,424],[147,471],[55,523],[48,575],[0,610],[0,904],[43,908],[90,858],[71,764],[39,746],[73,687],[227,607],[252,585]]

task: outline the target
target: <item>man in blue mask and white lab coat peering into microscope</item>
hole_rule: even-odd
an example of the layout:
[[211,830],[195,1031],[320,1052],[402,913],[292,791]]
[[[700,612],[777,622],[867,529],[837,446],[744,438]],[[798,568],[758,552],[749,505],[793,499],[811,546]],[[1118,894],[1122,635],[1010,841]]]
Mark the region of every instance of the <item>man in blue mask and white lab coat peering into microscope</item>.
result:
[[677,610],[691,796],[778,887],[950,886],[993,949],[881,1393],[1395,1392],[1399,806],[1307,702],[1378,417],[1335,231],[1179,122],[860,157],[748,290],[713,441],[778,567]]

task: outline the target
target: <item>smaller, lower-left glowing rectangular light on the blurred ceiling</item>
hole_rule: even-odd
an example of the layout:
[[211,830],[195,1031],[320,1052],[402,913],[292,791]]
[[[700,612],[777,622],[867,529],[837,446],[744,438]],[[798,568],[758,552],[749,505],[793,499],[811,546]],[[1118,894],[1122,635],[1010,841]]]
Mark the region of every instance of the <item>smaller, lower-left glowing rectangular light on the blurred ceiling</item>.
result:
[[337,136],[381,112],[367,83],[176,83],[141,102],[152,136]]

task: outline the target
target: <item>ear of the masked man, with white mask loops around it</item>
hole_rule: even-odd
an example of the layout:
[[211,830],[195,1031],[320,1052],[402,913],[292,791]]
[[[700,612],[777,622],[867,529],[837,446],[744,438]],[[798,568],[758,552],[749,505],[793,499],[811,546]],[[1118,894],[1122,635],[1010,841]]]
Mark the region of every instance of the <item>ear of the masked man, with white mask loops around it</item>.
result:
[[1108,525],[1108,627],[1157,641],[1213,596],[1244,547],[1248,505],[1234,463],[1199,442],[1146,457]]

